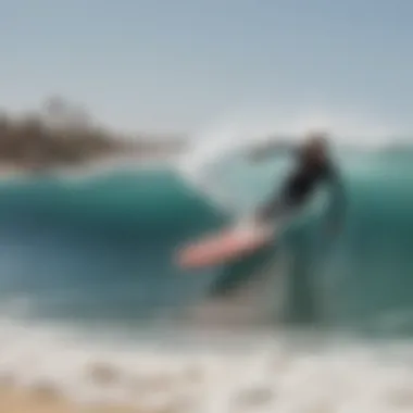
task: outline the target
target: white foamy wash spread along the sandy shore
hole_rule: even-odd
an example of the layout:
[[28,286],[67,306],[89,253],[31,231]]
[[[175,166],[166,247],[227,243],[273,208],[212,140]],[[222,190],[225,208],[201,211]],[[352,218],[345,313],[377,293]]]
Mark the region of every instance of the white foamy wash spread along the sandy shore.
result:
[[88,341],[4,318],[0,378],[79,403],[129,403],[147,412],[413,411],[413,345],[295,348],[284,338],[272,335],[234,352],[228,346],[177,352]]

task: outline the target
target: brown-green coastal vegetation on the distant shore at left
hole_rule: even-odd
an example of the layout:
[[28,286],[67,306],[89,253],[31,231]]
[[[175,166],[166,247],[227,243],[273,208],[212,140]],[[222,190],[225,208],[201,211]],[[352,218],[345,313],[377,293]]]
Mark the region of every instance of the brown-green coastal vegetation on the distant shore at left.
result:
[[48,99],[39,111],[0,113],[0,163],[24,170],[76,166],[115,155],[148,159],[176,153],[183,146],[180,138],[110,130],[60,97]]

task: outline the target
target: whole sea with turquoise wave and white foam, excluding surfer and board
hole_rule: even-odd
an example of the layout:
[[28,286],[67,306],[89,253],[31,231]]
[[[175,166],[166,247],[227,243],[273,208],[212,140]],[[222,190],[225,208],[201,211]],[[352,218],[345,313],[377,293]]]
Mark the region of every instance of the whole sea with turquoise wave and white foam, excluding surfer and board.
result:
[[177,248],[252,211],[288,157],[4,176],[1,377],[157,412],[413,411],[413,149],[337,160],[341,233],[321,190],[270,248],[191,272]]

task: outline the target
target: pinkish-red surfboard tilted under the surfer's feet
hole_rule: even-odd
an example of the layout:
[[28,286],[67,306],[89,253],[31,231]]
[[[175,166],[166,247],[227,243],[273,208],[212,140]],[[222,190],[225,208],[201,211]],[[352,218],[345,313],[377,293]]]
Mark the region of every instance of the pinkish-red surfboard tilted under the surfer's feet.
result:
[[183,268],[220,265],[251,254],[273,239],[274,228],[253,222],[242,223],[223,231],[189,242],[177,252]]

